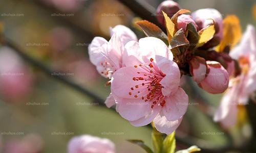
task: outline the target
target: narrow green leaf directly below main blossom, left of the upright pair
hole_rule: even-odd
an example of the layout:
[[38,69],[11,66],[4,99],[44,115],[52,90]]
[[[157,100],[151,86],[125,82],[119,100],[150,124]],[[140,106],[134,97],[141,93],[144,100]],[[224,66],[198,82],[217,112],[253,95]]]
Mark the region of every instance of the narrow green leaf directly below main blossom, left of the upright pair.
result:
[[153,141],[153,147],[155,153],[161,153],[162,152],[162,145],[163,145],[163,137],[162,133],[158,132],[154,126],[154,123],[152,123],[153,131],[151,133],[152,135],[152,141]]

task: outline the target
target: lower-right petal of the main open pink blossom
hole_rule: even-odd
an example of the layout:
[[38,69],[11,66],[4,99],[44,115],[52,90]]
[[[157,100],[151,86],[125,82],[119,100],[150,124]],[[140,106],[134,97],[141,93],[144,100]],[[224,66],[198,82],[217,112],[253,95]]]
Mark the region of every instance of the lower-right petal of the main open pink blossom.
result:
[[161,112],[168,121],[180,119],[186,113],[188,96],[182,88],[179,87],[175,93],[166,97],[165,101]]

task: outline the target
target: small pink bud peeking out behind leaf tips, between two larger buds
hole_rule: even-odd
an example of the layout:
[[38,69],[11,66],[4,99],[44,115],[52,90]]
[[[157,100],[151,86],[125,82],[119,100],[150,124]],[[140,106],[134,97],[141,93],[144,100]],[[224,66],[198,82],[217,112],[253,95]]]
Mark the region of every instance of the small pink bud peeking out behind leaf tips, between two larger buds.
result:
[[196,30],[198,30],[198,26],[197,26],[196,22],[192,19],[192,17],[190,15],[181,14],[178,17],[178,29],[182,28],[183,31],[185,32],[187,24],[190,22],[195,26]]

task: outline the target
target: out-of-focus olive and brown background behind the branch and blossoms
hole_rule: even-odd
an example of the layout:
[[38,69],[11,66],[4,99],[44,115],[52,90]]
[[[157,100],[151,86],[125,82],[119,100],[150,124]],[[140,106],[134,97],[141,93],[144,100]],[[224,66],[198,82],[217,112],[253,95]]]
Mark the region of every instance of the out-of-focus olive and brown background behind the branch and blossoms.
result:
[[[157,8],[162,1],[146,2]],[[224,17],[235,14],[243,31],[248,23],[256,25],[253,0],[176,2],[191,12],[215,8]],[[27,55],[54,69],[52,75],[65,76],[103,99],[110,87],[90,63],[88,46],[95,36],[108,40],[109,28],[117,24],[144,37],[134,24],[137,20],[140,18],[117,0],[0,1],[1,29],[6,37]],[[121,153],[143,152],[127,139],[141,139],[152,147],[150,128],[132,126],[115,111],[31,66],[12,48],[0,46],[0,73],[0,152],[63,153],[69,140],[82,134],[109,138]],[[221,95],[207,94],[184,77],[182,86],[189,95],[189,108],[177,130],[179,138],[215,148],[231,139],[241,144],[251,136],[244,108],[240,108],[235,127],[222,129],[211,118]],[[177,143],[178,148],[188,147]]]

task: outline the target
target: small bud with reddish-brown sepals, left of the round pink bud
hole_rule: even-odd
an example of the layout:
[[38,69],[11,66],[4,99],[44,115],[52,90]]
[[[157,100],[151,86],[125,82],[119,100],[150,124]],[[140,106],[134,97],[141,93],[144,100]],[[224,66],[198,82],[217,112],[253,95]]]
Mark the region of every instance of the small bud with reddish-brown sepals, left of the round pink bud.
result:
[[193,77],[193,80],[200,83],[204,80],[206,74],[206,62],[204,58],[199,56],[193,56],[189,61],[189,71]]

